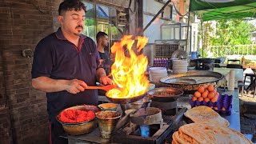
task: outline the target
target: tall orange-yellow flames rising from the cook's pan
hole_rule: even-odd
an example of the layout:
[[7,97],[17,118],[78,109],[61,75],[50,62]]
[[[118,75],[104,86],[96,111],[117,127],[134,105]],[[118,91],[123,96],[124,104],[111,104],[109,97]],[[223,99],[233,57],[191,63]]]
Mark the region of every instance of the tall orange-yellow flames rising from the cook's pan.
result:
[[[140,52],[146,46],[148,38],[137,37],[136,40],[137,52]],[[149,81],[144,73],[148,60],[145,55],[134,53],[133,44],[132,35],[126,35],[121,42],[114,42],[111,47],[111,53],[115,54],[111,74],[114,86],[118,88],[107,92],[106,95],[110,98],[132,98],[146,93]]]

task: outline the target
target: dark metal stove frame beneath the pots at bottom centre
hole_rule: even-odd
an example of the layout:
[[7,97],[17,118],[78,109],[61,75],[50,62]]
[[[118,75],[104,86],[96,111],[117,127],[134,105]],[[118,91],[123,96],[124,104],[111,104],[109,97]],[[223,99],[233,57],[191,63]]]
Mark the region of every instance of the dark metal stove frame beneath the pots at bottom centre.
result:
[[[167,107],[168,109],[170,107]],[[162,114],[162,123],[149,126],[149,137],[143,137],[141,126],[126,124],[116,134],[112,135],[111,142],[118,143],[165,143],[170,141],[174,131],[178,129],[183,120],[186,108],[177,110],[174,115]],[[162,125],[162,126],[161,126]]]

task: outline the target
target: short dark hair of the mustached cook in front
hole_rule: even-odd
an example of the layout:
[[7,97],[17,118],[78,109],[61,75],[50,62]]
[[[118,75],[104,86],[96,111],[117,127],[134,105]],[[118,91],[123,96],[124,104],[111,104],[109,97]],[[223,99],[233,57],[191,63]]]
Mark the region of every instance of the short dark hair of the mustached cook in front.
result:
[[86,6],[79,0],[65,0],[58,6],[58,15],[62,15],[67,10],[85,10],[86,12]]

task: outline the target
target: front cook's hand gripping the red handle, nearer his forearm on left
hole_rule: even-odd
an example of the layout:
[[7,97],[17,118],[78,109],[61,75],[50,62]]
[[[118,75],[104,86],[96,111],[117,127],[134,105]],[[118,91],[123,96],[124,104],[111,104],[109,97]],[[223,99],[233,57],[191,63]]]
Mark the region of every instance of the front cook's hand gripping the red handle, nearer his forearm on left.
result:
[[86,87],[86,82],[78,79],[73,79],[67,83],[66,91],[71,94],[78,94],[80,91],[84,91]]

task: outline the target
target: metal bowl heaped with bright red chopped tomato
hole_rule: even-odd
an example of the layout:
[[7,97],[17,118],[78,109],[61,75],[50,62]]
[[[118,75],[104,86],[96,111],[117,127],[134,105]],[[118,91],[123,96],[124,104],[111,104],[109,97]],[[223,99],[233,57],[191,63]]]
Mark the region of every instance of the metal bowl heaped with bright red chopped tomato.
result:
[[95,113],[100,111],[98,106],[81,105],[72,106],[62,110],[56,117],[67,134],[88,134],[97,125]]

